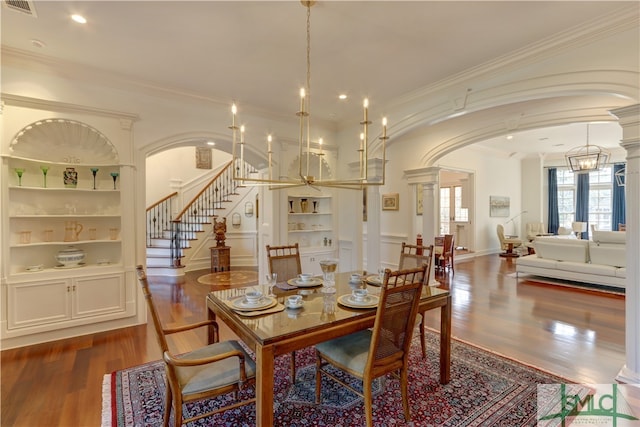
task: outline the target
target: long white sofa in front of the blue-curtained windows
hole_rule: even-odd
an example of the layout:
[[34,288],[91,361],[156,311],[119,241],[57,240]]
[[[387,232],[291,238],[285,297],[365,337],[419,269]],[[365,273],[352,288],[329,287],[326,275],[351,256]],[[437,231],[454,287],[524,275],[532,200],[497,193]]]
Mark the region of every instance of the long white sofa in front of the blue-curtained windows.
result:
[[542,277],[624,288],[626,283],[626,234],[594,231],[593,240],[538,237],[535,254],[516,260],[516,275]]

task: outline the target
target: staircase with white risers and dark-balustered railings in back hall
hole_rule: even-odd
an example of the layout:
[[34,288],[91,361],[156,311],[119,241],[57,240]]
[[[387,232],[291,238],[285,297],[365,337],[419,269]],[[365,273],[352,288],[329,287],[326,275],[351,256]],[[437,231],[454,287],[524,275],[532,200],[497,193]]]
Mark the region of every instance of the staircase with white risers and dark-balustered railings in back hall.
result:
[[[243,164],[245,173],[255,170]],[[182,276],[186,265],[183,260],[191,242],[205,237],[212,230],[218,211],[241,200],[244,188],[233,180],[232,162],[229,162],[172,217],[178,193],[172,193],[147,208],[147,274],[150,276]]]

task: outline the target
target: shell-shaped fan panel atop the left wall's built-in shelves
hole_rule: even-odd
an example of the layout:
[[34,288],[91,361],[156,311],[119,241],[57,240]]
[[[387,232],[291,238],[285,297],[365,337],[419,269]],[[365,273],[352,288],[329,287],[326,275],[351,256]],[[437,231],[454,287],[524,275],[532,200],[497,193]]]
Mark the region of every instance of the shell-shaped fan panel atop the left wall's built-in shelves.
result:
[[14,157],[59,163],[115,164],[118,152],[93,127],[68,119],[46,119],[25,126],[9,147]]

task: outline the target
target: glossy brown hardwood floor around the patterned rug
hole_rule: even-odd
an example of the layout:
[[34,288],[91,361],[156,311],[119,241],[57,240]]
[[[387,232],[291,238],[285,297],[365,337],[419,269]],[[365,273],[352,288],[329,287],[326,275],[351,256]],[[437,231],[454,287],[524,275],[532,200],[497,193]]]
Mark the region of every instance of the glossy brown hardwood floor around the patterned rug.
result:
[[[438,276],[453,295],[453,335],[577,382],[614,382],[625,363],[624,298],[509,277],[497,255],[456,264]],[[206,317],[205,271],[181,283],[150,278],[167,326]],[[436,313],[427,316],[437,329]],[[221,325],[222,326],[222,325]],[[173,341],[176,351],[203,345],[204,331]],[[230,337],[221,331],[222,339]],[[160,358],[155,335],[141,325],[1,353],[2,426],[98,426],[105,373]]]

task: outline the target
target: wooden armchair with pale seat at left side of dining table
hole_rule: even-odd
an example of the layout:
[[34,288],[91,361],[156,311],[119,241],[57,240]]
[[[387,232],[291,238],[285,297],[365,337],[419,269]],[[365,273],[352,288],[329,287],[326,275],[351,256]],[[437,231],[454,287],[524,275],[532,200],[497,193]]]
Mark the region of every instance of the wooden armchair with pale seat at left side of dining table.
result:
[[[183,423],[189,423],[255,402],[255,398],[238,400],[238,392],[247,385],[252,385],[255,382],[256,375],[256,366],[253,359],[240,346],[238,341],[220,342],[218,340],[218,324],[214,320],[175,328],[164,328],[153,303],[147,275],[141,265],[137,267],[137,273],[165,363],[167,380],[164,426],[167,427],[169,425],[172,407],[175,412],[173,425],[178,427]],[[205,326],[214,328],[214,344],[187,353],[171,354],[166,335]],[[182,419],[183,403],[212,399],[229,393],[235,394],[235,399],[231,404],[196,417]]]

